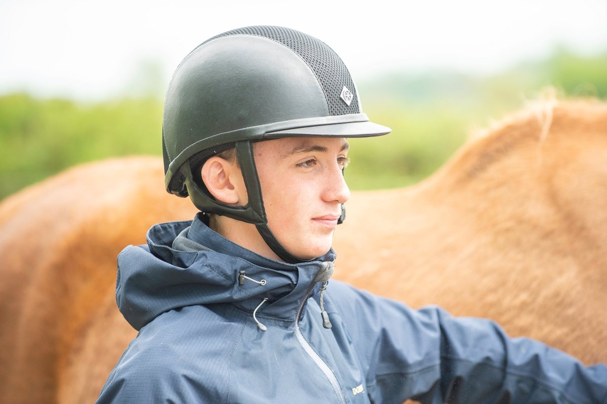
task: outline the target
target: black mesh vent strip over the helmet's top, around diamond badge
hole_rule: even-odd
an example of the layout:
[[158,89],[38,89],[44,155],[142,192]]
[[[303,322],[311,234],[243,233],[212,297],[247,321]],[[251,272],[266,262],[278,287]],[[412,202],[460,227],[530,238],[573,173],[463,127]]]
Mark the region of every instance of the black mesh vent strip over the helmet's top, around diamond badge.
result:
[[[272,39],[273,41],[285,45],[293,50],[293,52],[297,53],[300,58],[304,59],[308,66],[310,66],[310,69],[314,72],[314,75],[316,75],[316,78],[320,82],[320,86],[324,90],[329,113],[331,115],[361,112],[358,105],[356,88],[354,87],[350,72],[348,72],[348,69],[345,67],[341,58],[337,56],[337,53],[324,42],[319,41],[319,39],[284,27],[257,25],[254,27],[245,27],[224,32],[208,39],[201,45],[204,45],[213,39],[229,35],[263,36],[264,38]],[[354,95],[350,106],[347,106],[347,104],[339,98],[344,86],[346,86]]]

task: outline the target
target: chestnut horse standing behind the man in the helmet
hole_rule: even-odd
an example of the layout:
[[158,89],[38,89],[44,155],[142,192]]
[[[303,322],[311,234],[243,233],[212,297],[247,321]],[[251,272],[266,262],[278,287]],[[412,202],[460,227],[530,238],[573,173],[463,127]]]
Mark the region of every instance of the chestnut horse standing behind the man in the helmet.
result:
[[[160,158],[120,158],[0,204],[0,402],[95,401],[135,336],[114,300],[118,252],[195,214],[162,184]],[[606,362],[606,207],[607,105],[541,104],[416,186],[354,192],[334,277]]]

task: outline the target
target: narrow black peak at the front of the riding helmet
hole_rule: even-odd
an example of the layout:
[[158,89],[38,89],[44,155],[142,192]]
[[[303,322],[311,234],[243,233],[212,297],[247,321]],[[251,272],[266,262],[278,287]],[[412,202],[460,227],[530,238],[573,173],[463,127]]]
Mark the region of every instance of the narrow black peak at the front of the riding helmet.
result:
[[387,126],[382,126],[370,121],[364,121],[276,130],[274,132],[266,132],[265,135],[263,135],[263,138],[274,139],[287,138],[291,136],[331,136],[339,138],[366,138],[371,136],[387,135],[390,132],[392,132],[392,129]]

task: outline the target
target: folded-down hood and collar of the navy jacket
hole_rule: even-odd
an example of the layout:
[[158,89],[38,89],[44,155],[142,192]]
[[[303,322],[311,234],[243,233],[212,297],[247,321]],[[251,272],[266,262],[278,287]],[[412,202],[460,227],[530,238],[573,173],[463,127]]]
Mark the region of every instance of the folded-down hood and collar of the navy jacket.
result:
[[314,261],[287,264],[232,243],[204,220],[198,214],[193,221],[156,224],[147,245],[128,246],[118,255],[116,301],[133,328],[186,306],[232,303],[253,312],[264,298],[265,315],[294,321],[317,275],[327,272],[327,263],[332,269],[333,249]]

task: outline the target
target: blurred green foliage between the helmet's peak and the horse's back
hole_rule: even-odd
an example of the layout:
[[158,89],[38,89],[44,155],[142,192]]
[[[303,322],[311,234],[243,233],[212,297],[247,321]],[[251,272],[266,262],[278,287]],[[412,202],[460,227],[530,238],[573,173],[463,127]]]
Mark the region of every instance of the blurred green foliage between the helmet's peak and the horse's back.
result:
[[560,48],[546,60],[492,76],[395,73],[358,87],[365,113],[392,133],[350,140],[348,184],[353,189],[407,186],[438,169],[475,130],[522,108],[546,88],[560,96],[606,99],[607,53],[580,56]]

